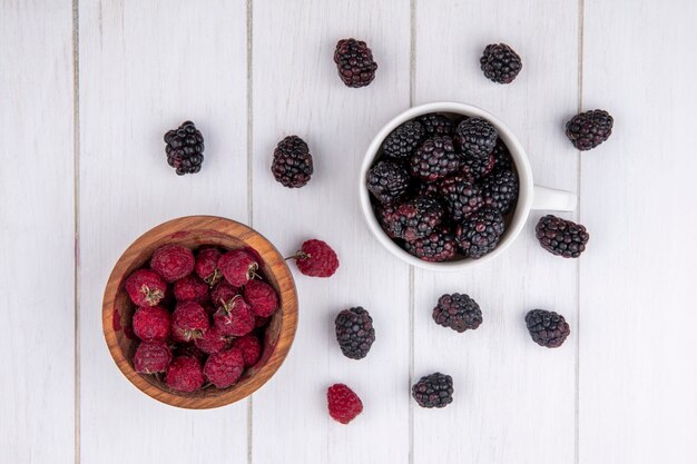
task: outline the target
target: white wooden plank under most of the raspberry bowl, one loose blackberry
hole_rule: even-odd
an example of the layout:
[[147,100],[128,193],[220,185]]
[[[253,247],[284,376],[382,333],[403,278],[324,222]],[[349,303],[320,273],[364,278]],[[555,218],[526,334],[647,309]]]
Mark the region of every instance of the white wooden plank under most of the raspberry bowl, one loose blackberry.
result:
[[[246,402],[183,411],[147,397],[114,365],[99,310],[145,230],[195,214],[246,221],[246,89],[244,1],[80,2],[82,462],[246,460]],[[206,159],[178,177],[163,135],[185,119]]]

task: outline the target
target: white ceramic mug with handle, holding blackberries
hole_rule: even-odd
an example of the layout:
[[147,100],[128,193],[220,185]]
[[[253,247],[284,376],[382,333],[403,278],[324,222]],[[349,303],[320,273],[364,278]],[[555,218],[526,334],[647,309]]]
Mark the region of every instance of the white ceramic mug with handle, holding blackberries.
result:
[[[518,171],[518,180],[520,185],[518,192],[518,204],[516,205],[513,216],[508,227],[505,228],[505,231],[503,233],[499,245],[491,253],[482,256],[479,259],[462,258],[459,260],[443,263],[429,263],[421,260],[415,256],[410,255],[404,249],[400,248],[397,244],[392,241],[392,239],[382,230],[380,224],[377,223],[377,219],[375,218],[373,205],[371,204],[370,191],[366,187],[366,176],[367,171],[373,166],[375,158],[381,154],[383,140],[394,129],[396,129],[397,126],[429,112],[444,112],[487,119],[497,128],[497,130],[499,131],[499,137],[501,137],[501,140],[503,140],[511,154],[511,157],[513,158],[513,164],[516,165],[516,170]],[[361,207],[363,208],[363,216],[367,221],[367,226],[370,227],[375,238],[377,238],[377,240],[385,248],[387,248],[390,253],[413,266],[418,266],[424,269],[451,272],[461,270],[464,268],[477,266],[478,264],[487,263],[505,251],[508,247],[511,246],[513,240],[520,235],[532,209],[571,211],[576,209],[577,204],[576,194],[565,190],[556,190],[547,187],[540,187],[533,184],[532,170],[530,169],[528,156],[526,155],[526,151],[523,150],[516,136],[513,136],[513,132],[511,132],[511,130],[503,122],[501,122],[493,115],[481,108],[474,107],[472,105],[451,101],[439,101],[410,108],[406,111],[397,115],[382,129],[380,129],[380,132],[377,132],[370,147],[367,148],[367,151],[365,152],[365,158],[363,160],[363,165],[361,166],[359,191],[361,192]]]

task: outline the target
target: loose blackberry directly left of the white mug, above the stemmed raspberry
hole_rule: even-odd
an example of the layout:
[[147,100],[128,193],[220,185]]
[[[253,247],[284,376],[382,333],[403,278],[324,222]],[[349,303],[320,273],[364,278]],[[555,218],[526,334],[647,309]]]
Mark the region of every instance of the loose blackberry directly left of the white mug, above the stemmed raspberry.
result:
[[307,184],[314,171],[307,144],[297,136],[281,140],[274,150],[271,171],[284,187],[300,188]]

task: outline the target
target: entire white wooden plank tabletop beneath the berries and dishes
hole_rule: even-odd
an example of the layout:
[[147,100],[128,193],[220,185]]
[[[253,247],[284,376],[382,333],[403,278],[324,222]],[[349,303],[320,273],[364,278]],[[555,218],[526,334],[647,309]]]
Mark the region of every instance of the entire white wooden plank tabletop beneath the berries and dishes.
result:
[[[687,0],[0,1],[0,463],[697,462],[696,19]],[[380,65],[365,89],[332,62],[351,36]],[[479,70],[493,41],[523,57],[510,86]],[[454,275],[410,269],[372,239],[355,191],[365,147],[396,112],[445,99],[500,116],[537,182],[579,191],[566,217],[590,230],[580,260],[539,248],[541,211],[509,254]],[[579,155],[563,121],[597,107],[615,134]],[[206,161],[180,178],[161,136],[184,119]],[[300,190],[268,169],[291,134],[316,166]],[[217,411],[147,398],[101,336],[122,249],[189,214],[251,224],[287,254],[322,238],[341,259],[328,280],[296,274],[286,363]],[[480,302],[478,330],[433,324],[445,292]],[[336,312],[357,305],[377,332],[360,362],[333,336]],[[536,307],[567,316],[561,348],[530,342]],[[421,409],[410,384],[434,371],[453,376],[455,402]],[[325,411],[335,382],[365,405],[348,426]]]

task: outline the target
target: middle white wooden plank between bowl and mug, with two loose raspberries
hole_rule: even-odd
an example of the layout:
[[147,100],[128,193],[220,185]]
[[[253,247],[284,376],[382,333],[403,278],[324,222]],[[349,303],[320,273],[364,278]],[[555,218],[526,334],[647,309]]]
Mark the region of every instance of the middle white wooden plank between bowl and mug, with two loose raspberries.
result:
[[[409,268],[370,235],[356,184],[373,135],[409,106],[409,28],[405,1],[254,4],[254,226],[287,255],[317,237],[341,259],[330,279],[292,265],[300,326],[286,363],[254,395],[254,462],[408,460]],[[379,62],[367,88],[346,88],[336,75],[334,48],[347,37],[366,40]],[[315,161],[297,190],[269,169],[275,145],[292,134]],[[371,312],[377,339],[365,359],[352,361],[336,344],[334,317],[359,305]],[[363,398],[363,415],[347,426],[327,415],[333,383]]]

